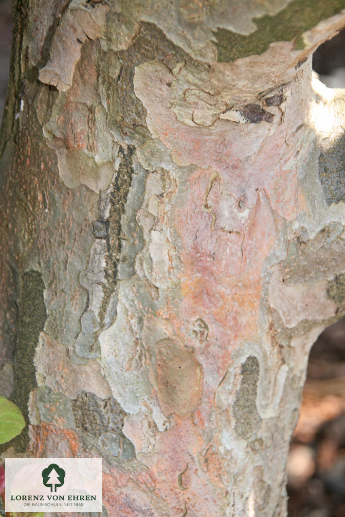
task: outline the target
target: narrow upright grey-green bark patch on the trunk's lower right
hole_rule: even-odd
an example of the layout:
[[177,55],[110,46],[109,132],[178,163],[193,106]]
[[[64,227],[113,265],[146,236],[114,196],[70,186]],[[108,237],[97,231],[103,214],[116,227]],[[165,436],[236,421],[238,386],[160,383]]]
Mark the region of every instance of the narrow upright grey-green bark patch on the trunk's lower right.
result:
[[241,387],[233,405],[235,431],[246,440],[256,435],[261,423],[256,403],[259,371],[258,359],[254,356],[247,357],[242,364]]

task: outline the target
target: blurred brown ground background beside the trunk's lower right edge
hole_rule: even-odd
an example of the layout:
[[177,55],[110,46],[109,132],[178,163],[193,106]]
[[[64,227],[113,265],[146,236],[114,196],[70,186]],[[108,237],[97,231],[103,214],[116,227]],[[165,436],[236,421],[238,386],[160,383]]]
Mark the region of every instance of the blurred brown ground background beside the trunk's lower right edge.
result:
[[311,349],[287,469],[289,517],[345,517],[345,320]]

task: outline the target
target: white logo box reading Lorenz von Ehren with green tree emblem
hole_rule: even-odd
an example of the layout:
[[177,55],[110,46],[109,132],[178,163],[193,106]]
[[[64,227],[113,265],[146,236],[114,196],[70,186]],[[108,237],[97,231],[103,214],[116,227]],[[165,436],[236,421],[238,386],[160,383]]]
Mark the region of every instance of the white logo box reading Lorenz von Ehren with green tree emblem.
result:
[[6,512],[101,512],[101,458],[6,458]]

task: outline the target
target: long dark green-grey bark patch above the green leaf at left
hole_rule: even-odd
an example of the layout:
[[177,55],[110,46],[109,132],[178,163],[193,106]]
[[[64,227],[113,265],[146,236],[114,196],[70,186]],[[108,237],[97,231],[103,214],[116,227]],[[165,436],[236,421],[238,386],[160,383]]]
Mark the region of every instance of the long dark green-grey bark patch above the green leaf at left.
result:
[[[38,271],[27,271],[22,275],[18,330],[14,344],[14,389],[12,398],[21,409],[28,423],[27,403],[29,394],[36,384],[34,355],[38,344],[39,333],[44,328],[47,312],[43,298],[44,283]],[[25,436],[24,436],[25,435]],[[20,445],[27,444],[27,432],[23,432]]]

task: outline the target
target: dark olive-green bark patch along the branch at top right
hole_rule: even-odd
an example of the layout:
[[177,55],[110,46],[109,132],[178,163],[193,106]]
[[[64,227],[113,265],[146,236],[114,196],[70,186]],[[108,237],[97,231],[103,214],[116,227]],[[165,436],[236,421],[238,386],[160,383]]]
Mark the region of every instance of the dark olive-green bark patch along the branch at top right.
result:
[[345,0],[293,0],[275,16],[265,14],[253,21],[257,30],[249,36],[228,29],[214,31],[219,62],[263,54],[270,43],[295,40],[295,49],[303,49],[302,34],[345,8]]

